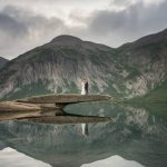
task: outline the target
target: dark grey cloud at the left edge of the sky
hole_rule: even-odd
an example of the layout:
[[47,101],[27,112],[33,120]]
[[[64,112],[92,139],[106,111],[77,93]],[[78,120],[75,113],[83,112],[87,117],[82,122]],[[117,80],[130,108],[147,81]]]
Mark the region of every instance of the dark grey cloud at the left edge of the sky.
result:
[[43,16],[35,14],[32,11],[24,11],[20,8],[8,6],[1,11],[0,26],[3,31],[17,33],[24,32],[24,36],[41,29],[55,29],[63,27],[62,20],[58,18],[47,19]]

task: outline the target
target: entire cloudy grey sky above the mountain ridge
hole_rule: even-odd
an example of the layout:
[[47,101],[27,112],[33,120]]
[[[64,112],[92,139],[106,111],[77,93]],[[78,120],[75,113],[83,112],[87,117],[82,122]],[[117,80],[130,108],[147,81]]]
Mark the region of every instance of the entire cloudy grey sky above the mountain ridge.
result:
[[167,28],[167,0],[0,0],[0,57],[60,35],[118,47]]

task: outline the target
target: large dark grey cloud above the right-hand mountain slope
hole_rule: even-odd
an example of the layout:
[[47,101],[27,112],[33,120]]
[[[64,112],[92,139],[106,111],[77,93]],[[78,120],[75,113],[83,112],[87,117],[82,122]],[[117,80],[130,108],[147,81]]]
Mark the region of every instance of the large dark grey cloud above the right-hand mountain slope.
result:
[[135,33],[144,35],[145,32],[164,29],[167,26],[167,2],[159,4],[145,6],[141,1],[129,6],[121,11],[96,11],[90,17],[89,28],[97,35],[108,33]]

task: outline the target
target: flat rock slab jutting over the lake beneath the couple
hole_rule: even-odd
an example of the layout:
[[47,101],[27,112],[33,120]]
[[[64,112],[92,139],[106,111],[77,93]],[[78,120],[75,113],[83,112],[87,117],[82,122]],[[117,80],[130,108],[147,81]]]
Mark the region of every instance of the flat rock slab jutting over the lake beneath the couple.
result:
[[20,99],[16,101],[0,102],[0,111],[48,111],[60,110],[65,106],[77,102],[108,100],[108,95],[43,95]]

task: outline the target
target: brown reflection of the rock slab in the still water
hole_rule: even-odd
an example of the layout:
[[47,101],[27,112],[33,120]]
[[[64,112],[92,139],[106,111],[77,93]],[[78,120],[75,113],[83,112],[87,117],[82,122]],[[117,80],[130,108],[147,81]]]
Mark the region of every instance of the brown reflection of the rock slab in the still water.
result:
[[36,124],[84,124],[84,126],[81,127],[85,129],[85,134],[87,134],[87,126],[85,124],[111,121],[111,118],[67,114],[63,110],[0,111],[0,121],[6,120],[21,120],[21,121],[31,121]]

